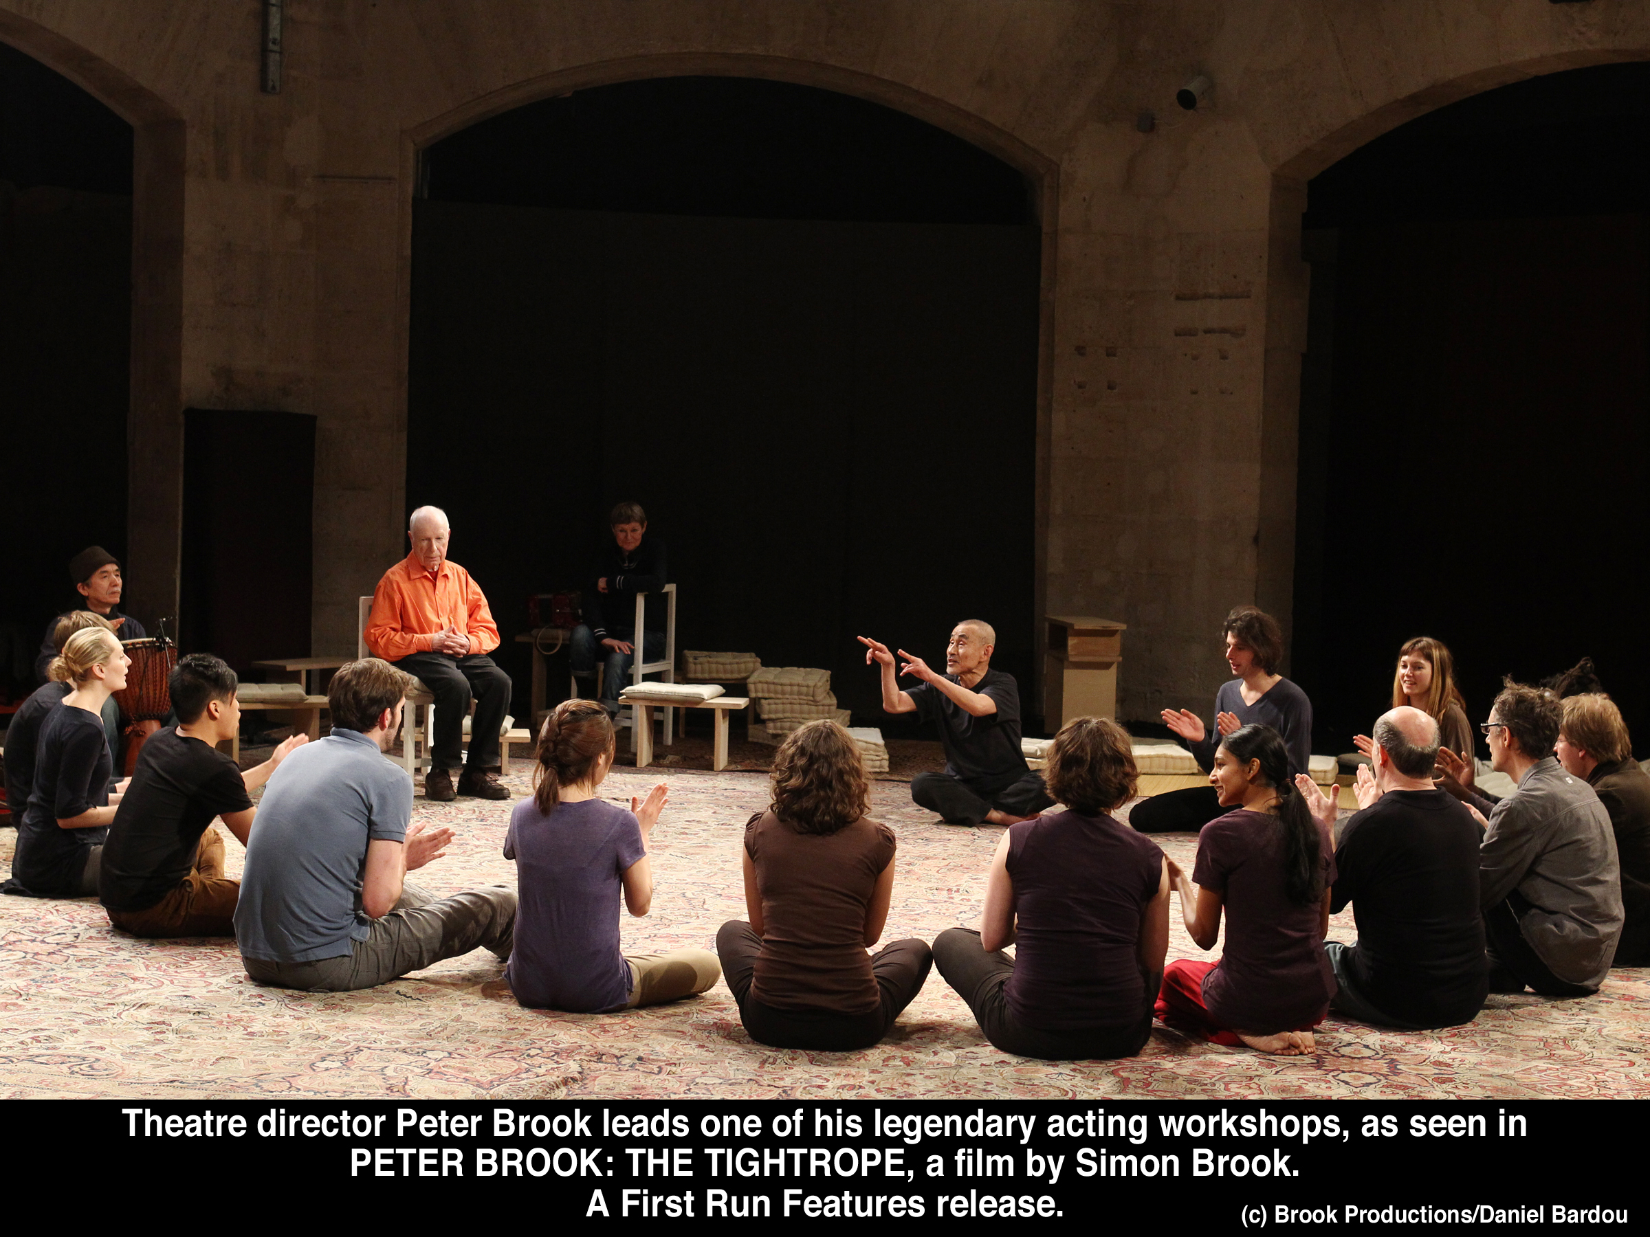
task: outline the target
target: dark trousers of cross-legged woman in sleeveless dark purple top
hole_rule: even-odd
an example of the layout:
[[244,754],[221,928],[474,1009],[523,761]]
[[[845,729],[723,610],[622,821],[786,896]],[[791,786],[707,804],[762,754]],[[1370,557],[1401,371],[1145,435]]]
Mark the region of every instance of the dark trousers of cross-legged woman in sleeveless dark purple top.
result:
[[1008,1008],[1003,988],[1015,973],[1013,958],[1002,950],[987,953],[980,934],[970,929],[945,929],[934,938],[934,965],[969,1008],[974,1021],[992,1047],[1016,1057],[1038,1061],[1112,1061],[1138,1056],[1152,1037],[1152,1004],[1155,983],[1145,985],[1140,1018],[1124,1026],[1082,1028],[1081,1031],[1043,1031],[1026,1026]]

